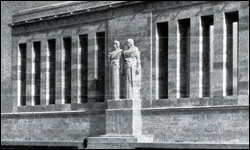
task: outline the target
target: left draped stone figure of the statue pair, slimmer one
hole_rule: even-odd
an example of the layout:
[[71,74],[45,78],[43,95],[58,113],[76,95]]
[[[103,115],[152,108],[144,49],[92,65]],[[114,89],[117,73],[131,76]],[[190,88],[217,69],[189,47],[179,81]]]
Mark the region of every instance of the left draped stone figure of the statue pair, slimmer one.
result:
[[111,99],[120,99],[120,42],[114,41],[114,51],[109,54]]

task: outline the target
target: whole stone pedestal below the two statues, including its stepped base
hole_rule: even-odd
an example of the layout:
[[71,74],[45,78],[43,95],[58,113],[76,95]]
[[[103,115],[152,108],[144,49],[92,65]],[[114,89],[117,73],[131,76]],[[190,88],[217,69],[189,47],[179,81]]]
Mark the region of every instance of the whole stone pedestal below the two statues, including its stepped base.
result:
[[89,137],[88,148],[132,148],[140,141],[141,131],[141,100],[109,100],[106,134]]

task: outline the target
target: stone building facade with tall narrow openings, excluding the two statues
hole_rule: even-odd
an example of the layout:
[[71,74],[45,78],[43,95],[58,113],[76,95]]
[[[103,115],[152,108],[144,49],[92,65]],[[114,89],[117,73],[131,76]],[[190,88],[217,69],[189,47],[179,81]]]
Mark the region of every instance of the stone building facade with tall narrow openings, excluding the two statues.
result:
[[[82,148],[88,137],[88,148],[249,147],[249,2],[72,2],[19,12],[10,26],[13,109],[1,114],[2,145]],[[129,38],[141,99],[111,100],[108,55]]]

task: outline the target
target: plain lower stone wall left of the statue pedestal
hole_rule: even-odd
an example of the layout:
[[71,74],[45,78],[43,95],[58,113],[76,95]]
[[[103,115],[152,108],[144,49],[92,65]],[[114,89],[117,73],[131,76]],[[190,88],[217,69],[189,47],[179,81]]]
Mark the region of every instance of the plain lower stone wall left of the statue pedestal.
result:
[[82,142],[87,136],[104,133],[103,111],[1,115],[1,141]]

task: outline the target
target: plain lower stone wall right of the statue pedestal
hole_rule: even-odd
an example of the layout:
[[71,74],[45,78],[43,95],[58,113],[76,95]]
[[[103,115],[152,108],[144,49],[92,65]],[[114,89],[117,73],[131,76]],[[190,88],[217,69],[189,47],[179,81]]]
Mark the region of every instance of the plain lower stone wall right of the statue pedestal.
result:
[[249,109],[143,109],[142,133],[153,136],[153,143],[249,144]]

